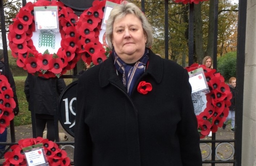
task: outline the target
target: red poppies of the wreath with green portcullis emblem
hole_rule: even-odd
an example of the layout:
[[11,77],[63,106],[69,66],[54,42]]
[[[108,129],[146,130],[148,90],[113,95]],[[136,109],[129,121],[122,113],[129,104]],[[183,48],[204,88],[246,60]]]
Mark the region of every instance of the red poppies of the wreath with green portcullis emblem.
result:
[[[61,47],[57,53],[39,53],[31,39],[35,31],[35,6],[58,6],[59,28],[61,35]],[[28,2],[22,7],[14,23],[9,26],[8,40],[12,56],[17,60],[19,67],[28,73],[49,77],[60,77],[67,70],[73,69],[81,58],[76,54],[77,37],[76,22],[78,17],[74,11],[65,7],[62,2],[52,0],[38,0],[35,3]]]

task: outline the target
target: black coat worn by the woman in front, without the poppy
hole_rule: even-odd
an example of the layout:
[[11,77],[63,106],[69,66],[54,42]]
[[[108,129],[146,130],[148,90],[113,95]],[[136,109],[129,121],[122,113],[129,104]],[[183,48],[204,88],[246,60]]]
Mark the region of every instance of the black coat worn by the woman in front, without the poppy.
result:
[[[78,81],[76,166],[201,166],[197,121],[188,72],[150,51],[131,97],[113,58]],[[137,91],[151,83],[148,94]]]

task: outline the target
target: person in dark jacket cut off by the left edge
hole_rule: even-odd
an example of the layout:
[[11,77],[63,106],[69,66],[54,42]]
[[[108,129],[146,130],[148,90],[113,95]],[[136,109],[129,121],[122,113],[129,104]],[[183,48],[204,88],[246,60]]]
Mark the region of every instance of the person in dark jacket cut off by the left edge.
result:
[[[19,102],[16,94],[16,86],[15,86],[12,73],[10,71],[9,73],[6,73],[5,64],[4,64],[4,54],[2,49],[0,49],[0,73],[1,75],[4,75],[7,77],[8,82],[10,83],[10,87],[12,88],[13,99],[16,103],[16,107],[14,108],[13,112],[14,112],[14,115],[16,116],[19,113]],[[0,142],[6,142],[6,141],[7,141],[7,128],[5,128],[5,131],[2,134],[0,134]],[[5,147],[6,146],[0,146],[0,150],[4,151]]]

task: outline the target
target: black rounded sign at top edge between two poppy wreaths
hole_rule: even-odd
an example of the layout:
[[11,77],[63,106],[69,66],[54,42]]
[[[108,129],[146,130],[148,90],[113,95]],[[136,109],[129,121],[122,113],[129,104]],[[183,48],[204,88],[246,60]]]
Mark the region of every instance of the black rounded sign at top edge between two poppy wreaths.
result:
[[93,6],[94,0],[60,0],[66,6],[71,7],[73,10],[86,10]]

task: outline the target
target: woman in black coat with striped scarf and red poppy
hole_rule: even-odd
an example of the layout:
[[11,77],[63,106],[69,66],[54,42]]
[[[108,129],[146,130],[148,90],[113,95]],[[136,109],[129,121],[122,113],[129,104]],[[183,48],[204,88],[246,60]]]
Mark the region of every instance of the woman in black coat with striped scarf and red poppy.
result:
[[187,71],[149,49],[133,3],[113,8],[106,35],[112,55],[78,81],[74,164],[202,165]]

